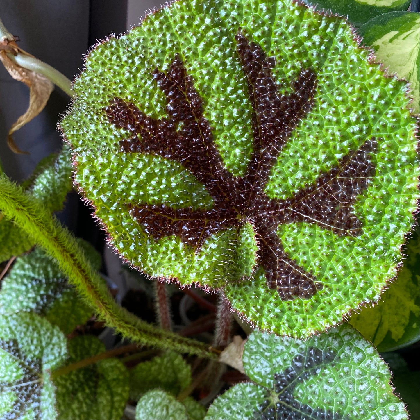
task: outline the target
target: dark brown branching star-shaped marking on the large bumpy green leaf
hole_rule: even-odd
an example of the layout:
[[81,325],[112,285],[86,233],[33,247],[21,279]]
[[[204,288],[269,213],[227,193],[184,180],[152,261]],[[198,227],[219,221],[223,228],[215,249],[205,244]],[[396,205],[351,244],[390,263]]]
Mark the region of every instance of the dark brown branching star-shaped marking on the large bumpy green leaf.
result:
[[253,152],[246,175],[236,178],[224,167],[211,126],[203,116],[202,98],[184,63],[176,57],[166,73],[157,69],[153,73],[166,95],[167,118],[150,118],[121,98],[115,98],[105,111],[115,126],[131,133],[120,142],[123,152],[155,154],[180,163],[205,186],[214,207],[174,210],[165,205],[130,204],[130,214],[156,239],[175,235],[196,250],[211,234],[238,228],[249,220],[259,238],[258,257],[268,287],[277,289],[283,300],[310,298],[322,284],[285,254],[277,228],[306,221],[339,235],[362,234],[362,223],[352,208],[356,196],[366,188],[367,178],[375,174],[371,154],[376,142],[366,141],[293,198],[268,197],[268,176],[299,119],[311,108],[316,75],[311,68],[303,69],[291,85],[293,92],[279,95],[272,74],[274,58],[267,57],[241,31],[236,42],[253,108]]

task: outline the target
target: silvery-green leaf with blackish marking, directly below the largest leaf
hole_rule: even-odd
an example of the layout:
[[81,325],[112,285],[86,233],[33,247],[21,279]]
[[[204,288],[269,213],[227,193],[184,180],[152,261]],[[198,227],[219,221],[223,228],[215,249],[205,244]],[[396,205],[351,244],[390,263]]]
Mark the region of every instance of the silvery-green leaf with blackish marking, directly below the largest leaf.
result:
[[391,374],[376,350],[348,324],[306,341],[252,333],[240,383],[219,396],[206,420],[407,419]]

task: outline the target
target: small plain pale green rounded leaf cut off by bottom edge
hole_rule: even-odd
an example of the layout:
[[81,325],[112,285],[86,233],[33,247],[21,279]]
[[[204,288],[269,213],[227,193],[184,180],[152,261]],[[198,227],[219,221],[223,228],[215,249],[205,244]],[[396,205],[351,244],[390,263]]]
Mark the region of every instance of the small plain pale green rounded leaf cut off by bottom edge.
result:
[[160,389],[147,392],[136,406],[136,420],[189,420],[186,407]]

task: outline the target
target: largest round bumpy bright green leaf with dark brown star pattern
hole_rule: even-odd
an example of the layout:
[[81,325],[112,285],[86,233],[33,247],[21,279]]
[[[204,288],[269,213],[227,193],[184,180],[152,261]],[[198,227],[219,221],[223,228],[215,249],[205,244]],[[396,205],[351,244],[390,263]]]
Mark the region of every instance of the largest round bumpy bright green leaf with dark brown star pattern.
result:
[[145,273],[223,287],[259,328],[322,331],[378,299],[416,207],[406,85],[368,55],[289,1],[173,3],[89,54],[62,121],[76,181]]

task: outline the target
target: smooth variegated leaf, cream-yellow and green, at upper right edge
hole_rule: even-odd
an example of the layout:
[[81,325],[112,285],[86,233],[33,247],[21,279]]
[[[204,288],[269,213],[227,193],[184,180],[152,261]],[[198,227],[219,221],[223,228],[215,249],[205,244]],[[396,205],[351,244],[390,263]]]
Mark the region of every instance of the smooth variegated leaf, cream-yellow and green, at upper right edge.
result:
[[411,106],[420,114],[420,13],[386,13],[367,22],[359,32],[390,73],[410,82]]

